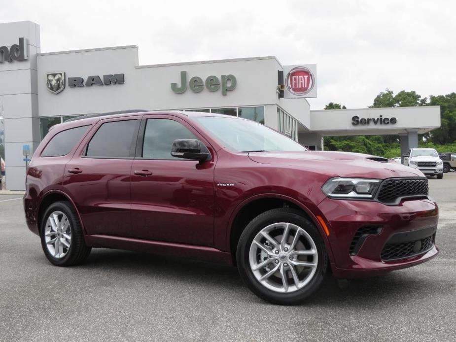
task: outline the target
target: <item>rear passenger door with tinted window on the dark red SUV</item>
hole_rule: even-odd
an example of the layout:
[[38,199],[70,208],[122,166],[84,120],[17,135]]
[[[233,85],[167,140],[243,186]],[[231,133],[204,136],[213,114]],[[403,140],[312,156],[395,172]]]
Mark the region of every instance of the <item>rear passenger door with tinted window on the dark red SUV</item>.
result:
[[130,173],[140,118],[101,120],[65,168],[63,185],[89,235],[129,235]]

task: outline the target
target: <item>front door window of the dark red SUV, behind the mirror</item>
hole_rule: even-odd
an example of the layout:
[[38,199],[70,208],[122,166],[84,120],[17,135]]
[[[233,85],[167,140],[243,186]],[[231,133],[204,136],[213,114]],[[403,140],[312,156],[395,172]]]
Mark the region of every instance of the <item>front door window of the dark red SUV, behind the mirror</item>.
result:
[[147,119],[142,158],[175,160],[171,147],[176,139],[197,139],[185,126],[170,119]]

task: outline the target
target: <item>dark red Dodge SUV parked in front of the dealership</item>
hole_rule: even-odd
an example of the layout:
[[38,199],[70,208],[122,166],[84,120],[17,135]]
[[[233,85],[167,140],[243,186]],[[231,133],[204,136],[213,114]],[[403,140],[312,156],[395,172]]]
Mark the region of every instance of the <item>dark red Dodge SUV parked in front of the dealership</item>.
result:
[[56,125],[35,151],[27,224],[58,266],[92,247],[236,265],[273,303],[324,274],[355,277],[434,257],[427,179],[381,157],[312,152],[250,120],[136,112]]

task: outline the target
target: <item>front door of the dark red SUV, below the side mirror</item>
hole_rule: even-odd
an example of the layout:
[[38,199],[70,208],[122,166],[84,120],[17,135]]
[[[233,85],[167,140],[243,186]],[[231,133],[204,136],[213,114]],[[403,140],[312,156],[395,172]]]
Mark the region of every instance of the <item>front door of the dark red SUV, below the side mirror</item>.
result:
[[197,138],[174,116],[144,116],[133,161],[132,235],[140,239],[213,245],[214,165],[171,156],[175,139]]

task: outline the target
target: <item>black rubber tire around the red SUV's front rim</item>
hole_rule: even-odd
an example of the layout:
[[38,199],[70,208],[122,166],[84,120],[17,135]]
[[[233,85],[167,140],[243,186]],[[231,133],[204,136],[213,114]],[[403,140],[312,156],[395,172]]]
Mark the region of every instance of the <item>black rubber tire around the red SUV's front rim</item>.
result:
[[[249,250],[252,240],[260,230],[278,222],[292,223],[302,228],[314,240],[318,253],[316,272],[312,279],[304,287],[289,293],[276,292],[262,285],[253,274],[249,264]],[[328,257],[324,242],[315,225],[305,218],[299,210],[279,208],[258,215],[247,225],[237,246],[237,264],[241,278],[258,297],[273,304],[294,305],[303,302],[320,288],[326,273]]]

